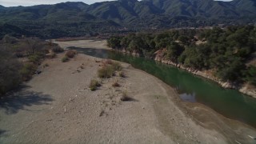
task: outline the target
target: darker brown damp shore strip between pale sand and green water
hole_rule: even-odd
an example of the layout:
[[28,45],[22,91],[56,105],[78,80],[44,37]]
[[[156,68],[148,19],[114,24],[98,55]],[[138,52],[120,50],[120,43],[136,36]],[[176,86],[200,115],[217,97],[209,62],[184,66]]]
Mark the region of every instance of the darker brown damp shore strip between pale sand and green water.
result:
[[[147,74],[145,71],[134,69],[132,66],[130,67],[132,70],[141,71],[143,74],[154,77],[151,74]],[[178,98],[177,93],[172,87],[168,86],[165,82],[162,82],[158,78],[154,77],[154,79],[157,79],[157,81],[161,83],[160,85],[165,87],[164,89],[167,90],[168,95],[175,94],[175,96],[170,97],[170,100],[173,101],[175,105],[179,107],[179,110],[182,110],[182,113],[185,114],[187,118],[192,118],[193,121],[196,122],[199,126],[205,127],[206,129],[209,129],[209,130],[216,130],[221,134],[224,133],[224,135],[227,133],[228,135],[226,137],[229,139],[229,141],[232,141],[232,142],[233,142],[232,138],[244,139],[244,136],[245,137],[247,136],[246,134],[249,134],[249,135],[251,135],[251,133],[254,134],[255,129],[253,127],[245,123],[236,121],[234,119],[226,118],[222,114],[218,114],[217,112],[215,112],[214,110],[210,109],[207,106],[204,106],[199,103],[182,102],[182,100]],[[161,113],[160,111],[158,112]],[[211,114],[211,116],[209,114]],[[230,129],[230,127],[232,127],[232,129]],[[164,130],[165,128],[162,127],[162,129]],[[234,133],[234,131],[240,131],[240,132],[236,134],[237,132]],[[238,142],[241,142],[241,141],[238,141]]]

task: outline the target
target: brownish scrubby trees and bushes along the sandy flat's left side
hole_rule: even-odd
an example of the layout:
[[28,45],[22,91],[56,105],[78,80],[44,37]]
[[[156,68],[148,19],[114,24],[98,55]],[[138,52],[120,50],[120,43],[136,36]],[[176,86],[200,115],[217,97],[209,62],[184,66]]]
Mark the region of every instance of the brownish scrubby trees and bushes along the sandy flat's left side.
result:
[[57,44],[39,38],[14,38],[0,41],[0,96],[13,90],[33,74],[39,74],[42,59],[63,51]]

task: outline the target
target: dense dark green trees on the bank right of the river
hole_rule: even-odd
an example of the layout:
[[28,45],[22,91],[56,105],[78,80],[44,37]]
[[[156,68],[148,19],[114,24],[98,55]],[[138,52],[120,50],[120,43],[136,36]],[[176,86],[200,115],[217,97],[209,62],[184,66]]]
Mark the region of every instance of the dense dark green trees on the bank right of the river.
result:
[[[158,34],[112,36],[108,46],[146,58],[160,57],[193,70],[209,70],[224,82],[256,86],[256,27],[168,30]],[[161,54],[160,54],[161,53]]]

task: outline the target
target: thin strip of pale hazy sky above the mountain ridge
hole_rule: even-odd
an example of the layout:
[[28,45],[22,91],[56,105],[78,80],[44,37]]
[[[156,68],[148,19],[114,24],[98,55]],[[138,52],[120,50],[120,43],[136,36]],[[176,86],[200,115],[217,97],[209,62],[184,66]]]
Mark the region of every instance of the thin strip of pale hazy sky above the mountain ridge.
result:
[[[33,6],[40,4],[55,4],[59,2],[85,2],[87,4],[91,4],[94,2],[102,2],[106,0],[0,0],[0,5],[2,6]],[[109,0],[110,1],[110,0]],[[222,0],[222,1],[230,1],[230,0]]]

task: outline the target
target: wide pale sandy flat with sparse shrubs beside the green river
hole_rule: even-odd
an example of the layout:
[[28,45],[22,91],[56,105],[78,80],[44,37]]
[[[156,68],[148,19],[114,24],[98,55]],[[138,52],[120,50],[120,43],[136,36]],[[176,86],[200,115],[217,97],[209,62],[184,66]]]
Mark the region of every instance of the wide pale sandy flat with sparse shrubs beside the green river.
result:
[[[100,62],[78,54],[63,63],[62,56],[46,60],[42,74],[1,99],[1,143],[255,142],[248,137],[256,135],[254,129],[205,106],[180,102],[170,86],[126,63],[126,78],[103,79],[99,90],[90,91]],[[116,80],[118,88],[111,86]],[[134,101],[120,101],[123,90]]]

